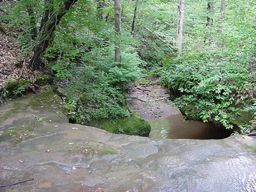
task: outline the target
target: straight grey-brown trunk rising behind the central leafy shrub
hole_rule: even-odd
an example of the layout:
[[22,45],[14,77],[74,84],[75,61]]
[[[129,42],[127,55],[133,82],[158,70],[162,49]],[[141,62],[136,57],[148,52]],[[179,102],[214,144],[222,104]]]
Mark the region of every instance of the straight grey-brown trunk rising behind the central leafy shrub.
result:
[[[115,31],[120,36],[121,33],[121,0],[115,0]],[[121,42],[118,40],[115,45],[115,62],[121,63]],[[121,67],[121,65],[118,65]]]

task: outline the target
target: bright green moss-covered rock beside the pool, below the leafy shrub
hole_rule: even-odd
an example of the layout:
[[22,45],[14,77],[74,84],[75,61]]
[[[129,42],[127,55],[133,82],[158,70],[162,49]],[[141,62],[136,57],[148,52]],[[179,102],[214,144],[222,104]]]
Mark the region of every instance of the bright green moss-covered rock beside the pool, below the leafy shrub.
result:
[[138,136],[148,136],[151,131],[150,124],[133,111],[131,111],[130,118],[119,118],[117,120],[92,120],[86,125],[113,133]]

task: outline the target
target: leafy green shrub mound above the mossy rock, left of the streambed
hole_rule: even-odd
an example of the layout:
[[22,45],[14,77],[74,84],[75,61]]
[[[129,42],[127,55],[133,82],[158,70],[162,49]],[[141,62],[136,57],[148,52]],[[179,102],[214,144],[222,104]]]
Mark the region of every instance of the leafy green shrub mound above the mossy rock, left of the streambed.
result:
[[[93,119],[126,118],[123,94],[127,84],[140,79],[140,60],[135,53],[122,54],[122,65],[113,62],[113,47],[93,50],[83,61],[70,68],[64,106],[69,118],[86,124]],[[103,55],[104,54],[104,57]]]

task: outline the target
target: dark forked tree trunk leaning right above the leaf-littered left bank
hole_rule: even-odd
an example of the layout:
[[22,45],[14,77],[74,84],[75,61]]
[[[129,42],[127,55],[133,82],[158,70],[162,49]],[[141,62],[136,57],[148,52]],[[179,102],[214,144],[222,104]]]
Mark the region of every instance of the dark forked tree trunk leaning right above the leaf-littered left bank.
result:
[[47,67],[47,63],[45,63],[43,54],[52,40],[52,35],[56,29],[56,26],[60,23],[61,18],[67,13],[72,5],[76,3],[76,1],[77,0],[67,0],[60,5],[58,10],[51,13],[50,7],[52,6],[52,0],[46,0],[45,3],[48,4],[45,4],[45,6],[49,7],[46,8],[42,17],[40,30],[36,37],[36,44],[33,47],[33,56],[30,63],[30,67],[33,70],[40,70],[44,67]]

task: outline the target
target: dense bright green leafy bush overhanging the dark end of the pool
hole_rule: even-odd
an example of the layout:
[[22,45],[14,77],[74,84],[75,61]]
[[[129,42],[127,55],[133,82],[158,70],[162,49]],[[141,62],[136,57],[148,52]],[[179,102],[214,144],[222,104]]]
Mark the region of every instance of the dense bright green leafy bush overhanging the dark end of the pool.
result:
[[253,76],[247,65],[207,53],[164,61],[161,82],[182,94],[175,101],[188,118],[220,122],[230,129],[239,115],[237,106],[253,98]]

